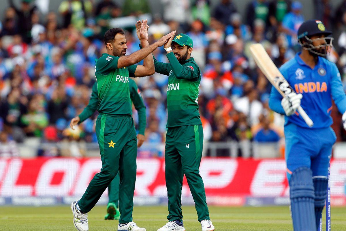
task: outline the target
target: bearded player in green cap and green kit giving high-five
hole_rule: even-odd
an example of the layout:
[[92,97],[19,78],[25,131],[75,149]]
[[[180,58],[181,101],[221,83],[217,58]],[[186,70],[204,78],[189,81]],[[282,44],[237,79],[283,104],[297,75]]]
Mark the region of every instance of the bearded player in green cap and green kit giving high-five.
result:
[[[137,22],[138,28],[140,21]],[[138,37],[140,36],[137,33]],[[168,194],[169,222],[157,231],[184,231],[181,190],[184,174],[188,181],[202,231],[212,231],[206,192],[199,166],[203,149],[203,128],[198,112],[201,72],[191,58],[193,42],[185,35],[174,34],[165,43],[169,63],[154,58],[155,71],[168,75],[168,128],[165,147],[165,178]]]

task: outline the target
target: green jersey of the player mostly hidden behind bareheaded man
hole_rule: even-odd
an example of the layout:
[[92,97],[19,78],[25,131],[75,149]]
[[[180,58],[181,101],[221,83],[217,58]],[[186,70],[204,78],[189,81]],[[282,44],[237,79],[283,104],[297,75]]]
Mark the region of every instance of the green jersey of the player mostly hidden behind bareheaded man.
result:
[[[129,80],[129,88],[130,88],[130,98],[132,103],[135,105],[135,108],[138,112],[138,130],[139,134],[144,135],[145,126],[146,126],[146,114],[145,114],[145,105],[143,102],[143,98],[140,95],[140,91],[136,85],[136,82],[133,79]],[[97,83],[94,83],[92,86],[91,97],[89,100],[89,104],[84,108],[83,112],[79,115],[80,122],[82,123],[85,119],[89,118],[94,114],[95,110],[98,108],[99,103],[99,95],[97,90]]]

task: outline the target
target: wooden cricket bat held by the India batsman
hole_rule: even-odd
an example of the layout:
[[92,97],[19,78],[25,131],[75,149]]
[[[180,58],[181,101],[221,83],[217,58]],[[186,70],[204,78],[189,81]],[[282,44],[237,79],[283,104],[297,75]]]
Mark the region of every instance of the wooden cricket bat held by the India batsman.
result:
[[[287,80],[283,77],[279,69],[275,66],[264,47],[260,43],[250,45],[250,51],[257,66],[261,69],[265,77],[272,83],[277,91],[280,92],[282,97],[286,97],[291,92],[294,92],[293,88],[289,85]],[[305,123],[309,126],[313,126],[313,122],[306,114],[304,109],[299,106],[297,109],[300,116],[304,119]]]

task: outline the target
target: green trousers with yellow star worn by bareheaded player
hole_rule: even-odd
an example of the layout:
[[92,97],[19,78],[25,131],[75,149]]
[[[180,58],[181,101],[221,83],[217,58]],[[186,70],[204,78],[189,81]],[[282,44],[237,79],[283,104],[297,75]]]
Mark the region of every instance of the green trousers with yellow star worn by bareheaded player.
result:
[[119,171],[119,223],[132,221],[133,195],[136,183],[137,137],[131,116],[100,114],[96,120],[100,146],[101,172],[90,181],[78,205],[89,212]]

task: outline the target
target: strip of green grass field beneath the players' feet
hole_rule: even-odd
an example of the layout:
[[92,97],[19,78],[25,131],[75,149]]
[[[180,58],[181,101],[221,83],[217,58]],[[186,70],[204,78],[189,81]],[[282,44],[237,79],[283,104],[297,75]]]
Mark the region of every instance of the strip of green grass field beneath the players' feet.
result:
[[[117,221],[105,221],[105,206],[88,213],[90,231],[115,231]],[[332,230],[346,230],[346,208],[332,208]],[[184,206],[186,231],[200,231],[193,206]],[[210,207],[211,220],[217,231],[292,231],[288,206],[277,207]],[[136,206],[134,221],[147,231],[156,231],[166,223],[166,206]],[[0,230],[50,231],[76,230],[69,205],[56,207],[0,207]],[[324,223],[325,230],[325,223]]]

